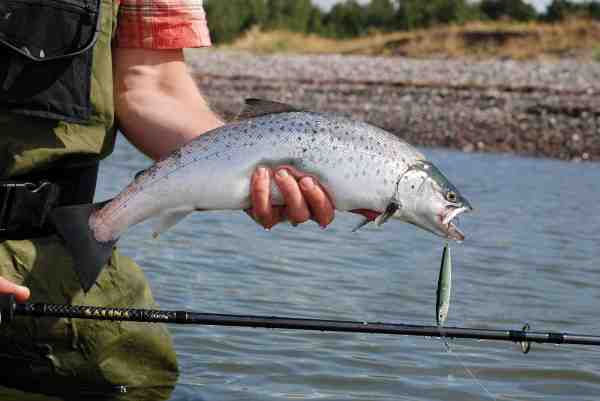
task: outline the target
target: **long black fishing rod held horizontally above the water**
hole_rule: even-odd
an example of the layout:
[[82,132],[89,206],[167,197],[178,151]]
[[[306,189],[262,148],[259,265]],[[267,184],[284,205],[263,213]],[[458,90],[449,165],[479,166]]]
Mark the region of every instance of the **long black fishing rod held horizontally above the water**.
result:
[[0,324],[16,316],[95,319],[145,323],[199,324],[214,326],[261,327],[269,329],[315,330],[345,333],[378,333],[418,337],[466,338],[520,343],[524,353],[531,343],[600,346],[600,336],[529,331],[493,330],[469,327],[423,326],[402,323],[300,319],[278,316],[227,315],[174,310],[110,308],[47,303],[16,303],[13,295],[0,296]]

